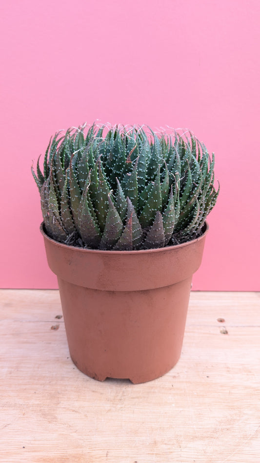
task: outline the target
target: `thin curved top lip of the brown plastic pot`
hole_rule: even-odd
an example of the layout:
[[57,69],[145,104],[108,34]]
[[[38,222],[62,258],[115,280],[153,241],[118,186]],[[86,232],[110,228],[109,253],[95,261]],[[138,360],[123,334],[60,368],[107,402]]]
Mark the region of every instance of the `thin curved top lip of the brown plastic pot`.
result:
[[186,241],[185,243],[180,243],[180,244],[176,244],[174,246],[164,246],[163,248],[151,248],[151,249],[139,249],[139,250],[133,250],[133,251],[113,251],[113,250],[101,250],[101,249],[85,249],[85,248],[78,248],[77,246],[69,246],[67,244],[64,244],[64,243],[60,243],[59,241],[56,241],[55,239],[53,238],[50,238],[47,233],[44,231],[43,229],[44,227],[44,222],[41,222],[40,224],[40,232],[41,234],[43,235],[43,237],[47,240],[49,240],[50,242],[52,243],[55,243],[57,246],[60,246],[61,248],[66,248],[66,249],[72,249],[72,250],[77,250],[81,253],[99,253],[99,254],[108,254],[108,255],[123,255],[123,254],[145,254],[145,253],[161,253],[161,252],[165,252],[167,250],[173,250],[173,249],[180,249],[180,248],[183,248],[184,246],[187,246],[187,245],[190,245],[192,243],[195,243],[197,241],[200,241],[202,240],[206,234],[208,233],[209,231],[209,225],[208,225],[208,222],[205,221],[204,225],[203,225],[203,228],[205,228],[204,232],[202,233],[202,235],[199,236],[199,238],[195,238],[193,240],[190,240],[190,241]]

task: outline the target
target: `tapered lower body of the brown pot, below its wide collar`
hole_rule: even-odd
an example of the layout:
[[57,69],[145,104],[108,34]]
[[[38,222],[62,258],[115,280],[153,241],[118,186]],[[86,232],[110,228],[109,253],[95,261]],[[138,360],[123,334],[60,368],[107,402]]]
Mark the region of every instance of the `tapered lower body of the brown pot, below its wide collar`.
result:
[[179,360],[191,277],[131,292],[58,282],[70,355],[82,373],[137,384],[159,378]]

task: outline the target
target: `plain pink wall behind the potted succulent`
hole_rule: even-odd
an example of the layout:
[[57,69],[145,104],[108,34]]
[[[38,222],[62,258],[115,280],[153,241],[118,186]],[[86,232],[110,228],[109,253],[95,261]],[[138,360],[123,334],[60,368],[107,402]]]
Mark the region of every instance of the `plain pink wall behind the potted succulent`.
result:
[[260,290],[259,0],[9,0],[0,14],[3,288],[56,288],[32,159],[61,128],[188,127],[216,154],[197,290]]

